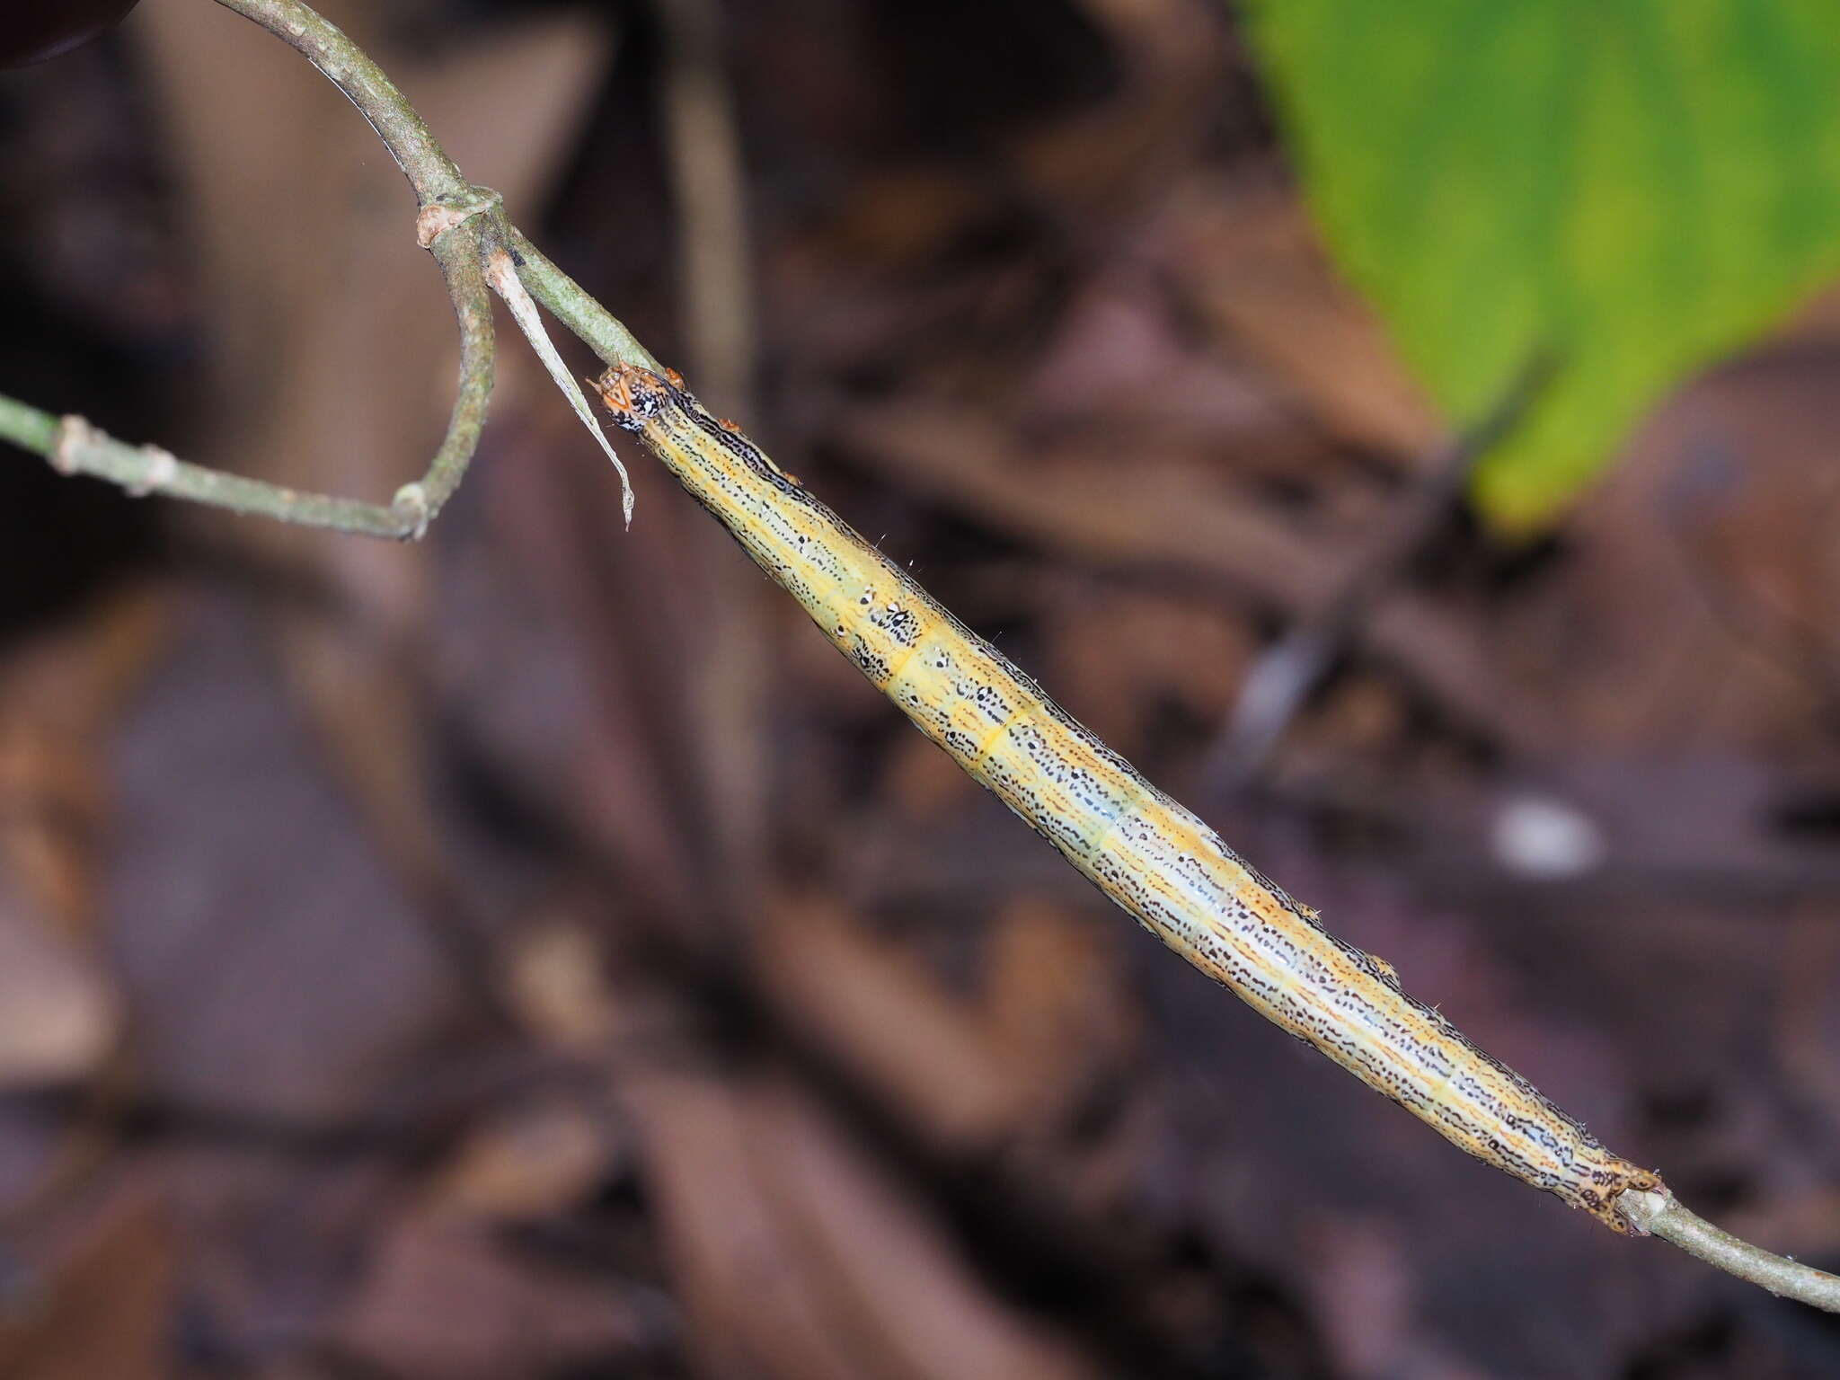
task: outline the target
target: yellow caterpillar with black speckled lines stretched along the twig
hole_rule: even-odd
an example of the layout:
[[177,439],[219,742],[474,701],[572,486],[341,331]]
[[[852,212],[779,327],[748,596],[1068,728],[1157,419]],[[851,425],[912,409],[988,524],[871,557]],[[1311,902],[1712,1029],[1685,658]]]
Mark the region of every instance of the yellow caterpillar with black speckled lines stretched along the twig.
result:
[[1330,935],[1194,813],[1043,694],[905,570],[718,421],[673,370],[616,364],[596,390],[889,699],[1108,898],[1266,1019],[1457,1148],[1619,1233],[1610,1154],[1518,1073]]

